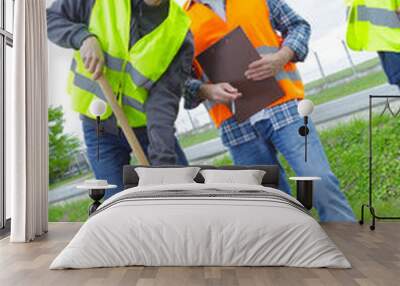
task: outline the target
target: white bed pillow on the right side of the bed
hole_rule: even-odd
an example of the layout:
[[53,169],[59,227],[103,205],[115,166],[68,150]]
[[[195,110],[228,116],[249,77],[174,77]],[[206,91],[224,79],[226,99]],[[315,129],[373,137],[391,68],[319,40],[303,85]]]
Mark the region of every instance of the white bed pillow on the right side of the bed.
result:
[[265,175],[262,170],[202,170],[205,184],[261,185]]

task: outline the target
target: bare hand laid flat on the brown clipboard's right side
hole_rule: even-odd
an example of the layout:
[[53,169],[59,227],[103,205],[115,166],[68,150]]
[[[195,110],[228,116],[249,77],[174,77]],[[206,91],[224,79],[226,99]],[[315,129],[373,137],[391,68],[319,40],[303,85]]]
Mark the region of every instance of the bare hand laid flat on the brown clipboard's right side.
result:
[[276,76],[293,57],[294,52],[288,47],[283,47],[277,53],[262,55],[261,59],[252,62],[244,75],[247,79],[255,81]]

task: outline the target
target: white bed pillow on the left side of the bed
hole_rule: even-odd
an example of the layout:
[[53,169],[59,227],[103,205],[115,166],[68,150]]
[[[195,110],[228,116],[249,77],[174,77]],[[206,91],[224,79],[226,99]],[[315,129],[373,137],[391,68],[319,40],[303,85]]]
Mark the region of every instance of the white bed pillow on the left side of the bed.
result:
[[196,183],[194,178],[198,174],[199,167],[184,168],[145,168],[135,169],[139,176],[138,186],[171,185]]

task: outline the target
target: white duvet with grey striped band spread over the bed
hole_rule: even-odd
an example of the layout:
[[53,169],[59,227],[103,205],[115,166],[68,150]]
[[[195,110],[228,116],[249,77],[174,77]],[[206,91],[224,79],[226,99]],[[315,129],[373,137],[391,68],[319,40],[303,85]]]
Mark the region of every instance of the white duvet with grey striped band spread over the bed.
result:
[[[121,199],[137,192],[174,190],[265,191],[272,199]],[[320,225],[293,203],[299,204],[283,192],[253,185],[184,184],[128,189],[101,205],[50,269],[129,265],[350,268]]]

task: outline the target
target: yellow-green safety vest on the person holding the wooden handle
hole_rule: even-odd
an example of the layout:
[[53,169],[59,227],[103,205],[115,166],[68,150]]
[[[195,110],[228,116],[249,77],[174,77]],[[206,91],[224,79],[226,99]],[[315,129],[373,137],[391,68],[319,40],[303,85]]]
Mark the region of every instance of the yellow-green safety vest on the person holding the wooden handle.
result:
[[[96,35],[104,51],[103,74],[117,96],[131,127],[146,125],[144,103],[150,88],[168,69],[189,31],[190,20],[182,8],[170,0],[168,17],[151,33],[129,49],[131,0],[96,0],[89,32]],[[90,113],[93,100],[105,101],[99,84],[86,71],[79,51],[72,60],[68,82],[75,111],[95,118]],[[101,120],[112,115],[109,105]]]

